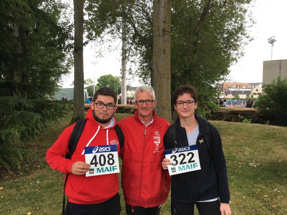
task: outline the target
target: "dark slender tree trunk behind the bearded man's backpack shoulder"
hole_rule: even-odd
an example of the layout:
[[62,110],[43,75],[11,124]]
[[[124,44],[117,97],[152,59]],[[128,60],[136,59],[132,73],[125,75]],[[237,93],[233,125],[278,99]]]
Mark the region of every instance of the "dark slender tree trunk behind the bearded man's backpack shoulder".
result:
[[85,118],[84,112],[84,2],[74,0],[74,102],[71,124]]

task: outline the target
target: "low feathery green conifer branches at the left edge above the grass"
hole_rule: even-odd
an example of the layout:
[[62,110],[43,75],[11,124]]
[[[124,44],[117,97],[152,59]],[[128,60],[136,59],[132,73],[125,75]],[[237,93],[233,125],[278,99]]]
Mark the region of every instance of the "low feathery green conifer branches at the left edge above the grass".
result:
[[36,159],[35,153],[25,148],[24,141],[67,111],[68,102],[0,97],[0,167],[20,169],[23,159]]

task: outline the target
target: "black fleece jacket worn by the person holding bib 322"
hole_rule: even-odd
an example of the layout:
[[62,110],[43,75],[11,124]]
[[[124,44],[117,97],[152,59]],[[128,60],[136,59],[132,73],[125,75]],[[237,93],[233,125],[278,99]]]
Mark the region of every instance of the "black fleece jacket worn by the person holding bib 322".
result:
[[[199,125],[199,135],[196,144],[201,169],[172,175],[171,199],[175,202],[192,203],[219,197],[220,202],[229,203],[227,169],[219,132],[215,126],[199,115],[195,114],[195,119]],[[175,124],[177,147],[188,146],[186,131],[185,128],[181,127],[179,118]],[[207,126],[209,126],[210,130],[212,157],[208,153],[206,143],[199,143],[203,135],[207,134]],[[169,129],[164,134],[165,149],[174,147],[169,138]]]

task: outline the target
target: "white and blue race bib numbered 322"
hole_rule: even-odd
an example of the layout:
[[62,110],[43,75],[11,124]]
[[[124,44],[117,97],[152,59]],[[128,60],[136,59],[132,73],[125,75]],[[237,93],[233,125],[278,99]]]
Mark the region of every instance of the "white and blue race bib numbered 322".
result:
[[164,154],[172,163],[171,165],[167,165],[169,175],[176,175],[201,169],[197,145],[164,150]]

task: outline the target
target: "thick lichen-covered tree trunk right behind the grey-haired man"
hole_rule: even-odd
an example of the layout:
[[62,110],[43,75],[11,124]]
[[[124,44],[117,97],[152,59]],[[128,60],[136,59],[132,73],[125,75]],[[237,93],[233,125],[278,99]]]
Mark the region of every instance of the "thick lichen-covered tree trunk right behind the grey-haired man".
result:
[[170,16],[171,0],[154,0],[151,80],[158,101],[156,114],[171,123]]

